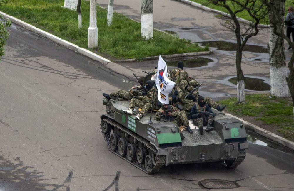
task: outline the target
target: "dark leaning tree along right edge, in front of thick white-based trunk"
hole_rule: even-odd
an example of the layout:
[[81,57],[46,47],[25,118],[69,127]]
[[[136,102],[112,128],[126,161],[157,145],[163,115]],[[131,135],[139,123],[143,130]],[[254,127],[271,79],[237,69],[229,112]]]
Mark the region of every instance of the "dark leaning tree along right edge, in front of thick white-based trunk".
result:
[[[281,25],[281,20],[280,20],[280,14],[275,14],[279,13],[280,11],[285,10],[285,5],[277,6],[281,0],[262,0],[265,5],[267,6],[267,9],[269,11],[269,16],[270,16],[270,24],[273,26],[273,32],[279,36],[285,39],[292,47],[294,47],[294,42],[291,42],[291,40],[284,34],[283,27],[280,27]],[[284,0],[282,0],[282,3],[285,3]],[[284,25],[285,23],[282,22]],[[288,68],[290,70],[288,77],[286,77],[286,81],[290,90],[290,95],[292,98],[292,104],[293,104],[293,113],[294,113],[294,48],[292,48],[292,55],[290,58],[290,61],[288,62]],[[294,119],[294,115],[293,115]]]

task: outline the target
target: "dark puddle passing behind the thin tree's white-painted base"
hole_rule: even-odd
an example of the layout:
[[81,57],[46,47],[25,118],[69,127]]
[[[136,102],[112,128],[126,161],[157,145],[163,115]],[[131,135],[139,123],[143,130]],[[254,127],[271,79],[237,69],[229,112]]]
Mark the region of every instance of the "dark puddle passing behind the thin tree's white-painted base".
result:
[[[270,90],[270,85],[265,83],[264,80],[258,78],[245,77],[245,89],[255,90],[255,91],[268,91]],[[237,77],[229,79],[229,82],[237,85]]]

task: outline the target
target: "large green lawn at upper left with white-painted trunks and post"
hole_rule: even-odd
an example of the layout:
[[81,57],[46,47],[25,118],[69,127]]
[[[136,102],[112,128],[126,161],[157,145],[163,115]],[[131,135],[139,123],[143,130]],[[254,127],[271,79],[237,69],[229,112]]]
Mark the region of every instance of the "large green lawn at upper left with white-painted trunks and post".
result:
[[[78,28],[76,11],[63,8],[64,0],[9,0],[1,11],[31,25],[68,40],[80,47],[88,47],[89,2],[82,1],[82,28]],[[141,37],[141,24],[113,13],[113,24],[106,25],[107,10],[97,8],[98,48],[93,52],[116,58],[144,58],[207,51],[198,44],[171,35],[153,31],[153,39]],[[88,49],[88,48],[87,48]],[[91,49],[89,49],[91,50]]]

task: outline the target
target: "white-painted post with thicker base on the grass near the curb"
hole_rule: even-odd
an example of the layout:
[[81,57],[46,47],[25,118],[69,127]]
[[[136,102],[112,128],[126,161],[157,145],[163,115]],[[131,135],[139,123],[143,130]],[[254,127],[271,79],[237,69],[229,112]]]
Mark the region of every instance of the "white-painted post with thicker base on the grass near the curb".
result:
[[97,1],[90,0],[90,26],[88,28],[88,48],[98,46]]

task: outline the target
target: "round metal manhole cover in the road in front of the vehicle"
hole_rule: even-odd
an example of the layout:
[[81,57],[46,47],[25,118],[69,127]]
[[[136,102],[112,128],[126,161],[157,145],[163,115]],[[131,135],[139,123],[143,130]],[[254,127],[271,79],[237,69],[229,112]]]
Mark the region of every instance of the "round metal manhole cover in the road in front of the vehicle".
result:
[[205,187],[205,188],[210,188],[210,189],[231,189],[231,188],[237,188],[240,187],[236,183],[228,180],[220,180],[220,179],[205,179],[201,180],[200,183]]

